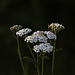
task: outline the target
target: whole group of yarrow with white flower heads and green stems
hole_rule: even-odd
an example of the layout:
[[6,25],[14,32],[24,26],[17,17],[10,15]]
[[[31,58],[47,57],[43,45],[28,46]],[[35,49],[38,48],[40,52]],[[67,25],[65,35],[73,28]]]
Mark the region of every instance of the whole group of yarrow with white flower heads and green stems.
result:
[[[65,29],[62,24],[52,23],[48,25],[49,31],[35,31],[31,35],[29,33],[32,32],[30,28],[23,28],[21,25],[14,25],[10,27],[10,30],[16,35],[17,38],[17,45],[18,45],[18,55],[20,58],[20,63],[23,69],[23,74],[25,75],[24,63],[23,58],[34,62],[35,66],[37,67],[37,75],[43,75],[44,72],[44,58],[46,53],[53,53],[52,57],[52,75],[54,75],[54,63],[55,63],[55,51],[56,51],[56,39],[57,34],[61,30]],[[20,44],[19,44],[19,37],[21,37],[24,42],[26,42],[29,51],[32,55],[32,58],[29,57],[22,57],[20,51]],[[53,42],[53,44],[51,44]],[[30,47],[29,44],[32,44],[33,48]],[[36,56],[34,56],[33,51],[35,52]],[[40,57],[42,58],[42,63],[40,63]],[[39,68],[41,66],[41,70]],[[41,73],[40,73],[41,72]]]

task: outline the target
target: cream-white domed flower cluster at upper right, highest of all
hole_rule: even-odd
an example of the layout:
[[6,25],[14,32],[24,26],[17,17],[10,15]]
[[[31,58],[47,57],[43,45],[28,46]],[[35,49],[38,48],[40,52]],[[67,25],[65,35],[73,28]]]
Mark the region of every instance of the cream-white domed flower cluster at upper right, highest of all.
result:
[[65,29],[65,27],[62,24],[58,24],[58,23],[52,23],[52,24],[48,25],[48,28],[54,32],[59,32],[59,31]]

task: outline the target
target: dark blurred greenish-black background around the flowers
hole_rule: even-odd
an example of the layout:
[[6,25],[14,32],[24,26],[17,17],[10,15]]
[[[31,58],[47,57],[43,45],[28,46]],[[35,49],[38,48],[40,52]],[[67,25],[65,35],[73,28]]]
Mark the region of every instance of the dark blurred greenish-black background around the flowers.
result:
[[[0,75],[22,75],[17,43],[10,27],[20,24],[33,31],[48,30],[51,23],[65,26],[57,38],[57,48],[64,50],[56,52],[55,75],[75,75],[75,0],[0,0]],[[26,45],[22,42],[23,48]],[[28,51],[23,49],[22,54],[27,56]],[[52,53],[48,55],[44,75],[51,72]],[[25,65],[28,75],[33,75],[33,65]]]

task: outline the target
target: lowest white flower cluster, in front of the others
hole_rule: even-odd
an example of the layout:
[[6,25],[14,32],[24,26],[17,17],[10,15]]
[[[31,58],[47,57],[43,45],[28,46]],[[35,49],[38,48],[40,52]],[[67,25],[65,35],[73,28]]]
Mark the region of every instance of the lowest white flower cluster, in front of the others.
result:
[[35,52],[41,52],[42,51],[44,53],[46,53],[46,52],[50,53],[51,51],[53,51],[53,46],[51,46],[50,43],[41,43],[40,45],[35,45],[33,47],[33,50]]

